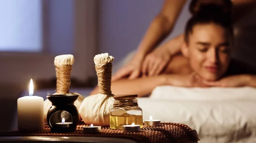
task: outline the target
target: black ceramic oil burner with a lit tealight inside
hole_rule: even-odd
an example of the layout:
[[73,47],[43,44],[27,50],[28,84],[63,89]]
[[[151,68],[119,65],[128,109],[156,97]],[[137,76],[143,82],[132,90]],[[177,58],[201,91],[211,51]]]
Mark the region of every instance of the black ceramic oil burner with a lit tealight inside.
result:
[[48,95],[52,106],[47,112],[51,132],[73,132],[79,122],[79,112],[74,105],[79,95]]

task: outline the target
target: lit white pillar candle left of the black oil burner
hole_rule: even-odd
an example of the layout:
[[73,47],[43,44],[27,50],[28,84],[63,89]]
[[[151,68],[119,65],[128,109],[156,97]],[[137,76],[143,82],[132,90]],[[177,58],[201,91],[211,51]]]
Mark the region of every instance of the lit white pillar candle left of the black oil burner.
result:
[[41,131],[44,129],[44,99],[33,95],[33,81],[29,85],[29,96],[18,98],[18,130]]

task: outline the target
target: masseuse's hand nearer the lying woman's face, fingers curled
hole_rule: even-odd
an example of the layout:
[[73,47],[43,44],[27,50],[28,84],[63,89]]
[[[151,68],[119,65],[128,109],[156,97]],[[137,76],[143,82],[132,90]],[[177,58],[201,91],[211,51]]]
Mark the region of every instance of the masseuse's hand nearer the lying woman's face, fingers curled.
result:
[[142,64],[143,76],[156,76],[160,74],[172,58],[169,50],[164,47],[157,47],[149,53]]

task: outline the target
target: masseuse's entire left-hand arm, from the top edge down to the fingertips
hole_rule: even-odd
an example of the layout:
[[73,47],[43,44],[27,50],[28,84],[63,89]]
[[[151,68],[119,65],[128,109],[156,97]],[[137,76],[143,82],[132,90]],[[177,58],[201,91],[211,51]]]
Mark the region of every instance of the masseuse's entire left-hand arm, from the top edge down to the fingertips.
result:
[[[165,0],[160,13],[154,18],[138,46],[134,58],[113,76],[113,80],[129,76],[137,78],[145,56],[151,52],[171,31],[186,0]],[[179,49],[178,49],[179,50]]]

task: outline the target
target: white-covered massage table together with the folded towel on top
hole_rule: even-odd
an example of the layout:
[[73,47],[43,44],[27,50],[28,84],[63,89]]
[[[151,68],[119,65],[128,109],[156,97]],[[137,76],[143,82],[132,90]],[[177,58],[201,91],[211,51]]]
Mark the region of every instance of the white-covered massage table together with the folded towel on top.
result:
[[139,98],[143,119],[184,123],[199,143],[256,143],[256,89],[162,86]]

